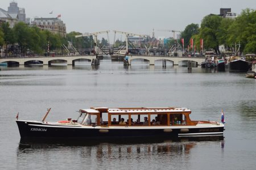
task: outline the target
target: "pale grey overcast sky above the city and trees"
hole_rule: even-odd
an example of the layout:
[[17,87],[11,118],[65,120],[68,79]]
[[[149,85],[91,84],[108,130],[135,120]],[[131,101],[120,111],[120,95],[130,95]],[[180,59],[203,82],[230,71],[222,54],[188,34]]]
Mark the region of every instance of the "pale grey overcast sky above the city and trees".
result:
[[[7,10],[13,0],[1,0],[0,8]],[[208,14],[219,14],[220,8],[256,9],[255,0],[16,0],[25,8],[27,18],[56,17],[66,24],[67,32],[98,32],[118,30],[152,36],[172,36],[158,29],[183,31],[191,23],[200,25]],[[53,14],[49,12],[53,11]]]

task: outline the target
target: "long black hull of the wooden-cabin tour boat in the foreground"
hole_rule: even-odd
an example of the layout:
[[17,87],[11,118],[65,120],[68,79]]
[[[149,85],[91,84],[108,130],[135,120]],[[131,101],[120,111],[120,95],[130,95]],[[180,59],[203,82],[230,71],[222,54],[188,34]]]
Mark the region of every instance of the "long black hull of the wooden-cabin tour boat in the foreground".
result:
[[72,126],[49,125],[36,121],[16,121],[22,138],[113,138],[113,137],[187,137],[223,135],[224,126]]

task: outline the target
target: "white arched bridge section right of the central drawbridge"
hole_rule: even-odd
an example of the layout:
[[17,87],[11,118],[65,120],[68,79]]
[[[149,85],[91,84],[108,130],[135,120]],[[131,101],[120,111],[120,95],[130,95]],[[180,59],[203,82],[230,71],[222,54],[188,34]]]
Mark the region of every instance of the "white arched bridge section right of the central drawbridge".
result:
[[171,61],[174,63],[174,65],[179,65],[180,61],[195,61],[197,65],[200,65],[201,62],[205,61],[205,57],[169,57],[169,56],[133,56],[128,55],[128,62],[129,65],[131,65],[131,61],[133,59],[146,59],[150,62],[150,65],[155,65],[155,61],[157,60],[166,60]]

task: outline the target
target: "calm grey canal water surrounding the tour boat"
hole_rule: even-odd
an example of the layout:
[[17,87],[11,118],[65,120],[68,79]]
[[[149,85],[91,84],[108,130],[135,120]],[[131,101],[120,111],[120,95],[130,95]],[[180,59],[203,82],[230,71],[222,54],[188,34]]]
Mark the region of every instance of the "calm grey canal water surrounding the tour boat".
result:
[[[170,63],[169,63],[170,65]],[[244,73],[101,61],[90,65],[1,67],[0,169],[255,169],[256,80]],[[101,107],[187,107],[192,120],[219,120],[224,139],[22,143],[21,120],[76,118]]]

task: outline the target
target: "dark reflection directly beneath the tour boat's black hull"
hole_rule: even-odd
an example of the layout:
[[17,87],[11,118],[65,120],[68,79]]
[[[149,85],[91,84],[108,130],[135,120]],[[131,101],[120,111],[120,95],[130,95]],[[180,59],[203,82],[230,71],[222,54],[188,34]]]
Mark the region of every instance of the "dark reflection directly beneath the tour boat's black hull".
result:
[[[18,148],[19,153],[31,153],[40,150],[42,152],[44,149],[49,150],[49,148],[60,148],[63,147],[74,148],[74,147],[85,147],[85,148],[96,148],[97,154],[102,153],[103,150],[107,150],[111,153],[112,150],[118,150],[119,152],[141,152],[146,149],[146,152],[172,152],[177,150],[189,151],[198,142],[220,142],[221,147],[224,147],[224,137],[214,136],[214,137],[181,137],[172,139],[150,139],[150,138],[140,138],[140,139],[86,139],[86,140],[61,140],[61,139],[35,139],[35,138],[21,138]],[[92,150],[93,151],[93,150]],[[143,151],[145,152],[145,150]]]

